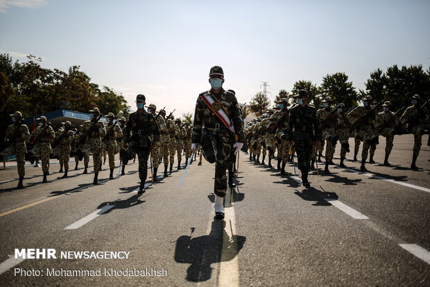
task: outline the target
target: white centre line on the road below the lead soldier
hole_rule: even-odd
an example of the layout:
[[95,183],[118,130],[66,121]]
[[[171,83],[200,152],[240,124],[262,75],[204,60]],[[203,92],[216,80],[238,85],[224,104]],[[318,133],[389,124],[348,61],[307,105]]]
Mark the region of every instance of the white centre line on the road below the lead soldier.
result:
[[234,207],[224,210],[224,235],[218,286],[239,286],[239,257],[237,256],[236,219]]

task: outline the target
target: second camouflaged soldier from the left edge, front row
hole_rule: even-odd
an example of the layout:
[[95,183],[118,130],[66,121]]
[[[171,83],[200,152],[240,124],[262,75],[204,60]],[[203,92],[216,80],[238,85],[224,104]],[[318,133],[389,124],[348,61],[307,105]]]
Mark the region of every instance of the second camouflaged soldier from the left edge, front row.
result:
[[53,142],[55,131],[52,126],[46,124],[46,117],[38,118],[39,126],[31,133],[31,138],[35,140],[35,146],[31,149],[30,154],[42,160],[43,180],[48,182],[46,177],[49,174],[49,156],[52,153],[51,142]]

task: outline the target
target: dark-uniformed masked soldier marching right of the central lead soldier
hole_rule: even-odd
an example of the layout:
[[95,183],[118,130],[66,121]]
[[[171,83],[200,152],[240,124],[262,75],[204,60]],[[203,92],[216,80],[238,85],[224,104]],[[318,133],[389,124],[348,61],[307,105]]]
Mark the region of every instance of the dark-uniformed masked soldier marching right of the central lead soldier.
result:
[[318,145],[321,138],[316,110],[307,104],[307,95],[306,90],[300,90],[295,96],[297,105],[290,109],[288,130],[285,131],[286,140],[289,145],[294,144],[297,151],[303,186],[310,186],[307,176],[311,169],[313,142]]

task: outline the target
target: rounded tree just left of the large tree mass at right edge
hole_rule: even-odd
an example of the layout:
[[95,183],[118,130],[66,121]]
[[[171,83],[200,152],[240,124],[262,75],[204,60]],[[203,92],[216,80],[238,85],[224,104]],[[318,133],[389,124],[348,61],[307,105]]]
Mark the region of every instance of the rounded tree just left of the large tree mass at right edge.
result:
[[359,95],[345,73],[327,74],[322,78],[320,92],[323,97],[332,97],[334,104],[343,103],[346,108],[356,105],[359,100]]

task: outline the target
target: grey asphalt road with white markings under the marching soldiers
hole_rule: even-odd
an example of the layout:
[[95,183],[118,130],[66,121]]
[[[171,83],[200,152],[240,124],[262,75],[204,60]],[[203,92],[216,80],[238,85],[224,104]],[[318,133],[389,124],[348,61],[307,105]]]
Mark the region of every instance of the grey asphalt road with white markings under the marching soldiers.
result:
[[[163,178],[160,167],[160,182],[148,181],[143,195],[137,195],[137,163],[114,180],[106,163],[97,186],[92,167],[82,174],[83,163],[60,179],[53,161],[49,183],[41,183],[40,167],[28,166],[24,190],[15,189],[16,167],[7,167],[0,170],[0,285],[430,286],[427,136],[418,171],[409,169],[411,135],[396,136],[392,167],[381,165],[380,142],[368,173],[345,161],[347,168],[331,165],[325,175],[320,163],[319,177],[309,176],[311,188],[294,176],[292,164],[281,176],[241,152],[225,220],[214,220],[214,165],[204,159],[190,165],[180,188],[184,170]],[[57,259],[15,259],[15,249],[30,248],[55,249]],[[61,252],[129,253],[66,259]],[[135,269],[142,276],[121,274]],[[101,270],[101,276],[65,270]]]

